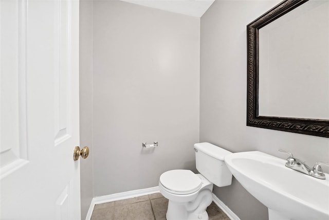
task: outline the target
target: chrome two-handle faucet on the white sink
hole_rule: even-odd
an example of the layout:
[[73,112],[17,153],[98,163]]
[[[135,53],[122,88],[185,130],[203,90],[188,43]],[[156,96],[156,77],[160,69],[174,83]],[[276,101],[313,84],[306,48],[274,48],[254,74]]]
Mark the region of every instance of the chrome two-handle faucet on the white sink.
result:
[[287,162],[285,164],[287,168],[296,170],[298,172],[307,174],[309,176],[313,176],[315,178],[325,179],[325,175],[322,172],[322,168],[320,165],[325,164],[329,166],[329,163],[319,161],[316,162],[314,167],[311,169],[310,167],[307,166],[305,161],[295,158],[294,155],[291,154],[290,152],[281,149],[279,150],[279,152],[289,155],[289,157],[287,158]]

